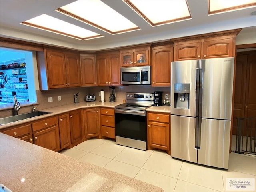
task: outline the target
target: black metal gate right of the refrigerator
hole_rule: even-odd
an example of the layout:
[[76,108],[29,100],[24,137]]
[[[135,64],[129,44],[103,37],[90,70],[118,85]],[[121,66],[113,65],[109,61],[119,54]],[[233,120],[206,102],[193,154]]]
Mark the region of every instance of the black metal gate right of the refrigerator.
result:
[[256,155],[256,117],[234,118],[237,121],[235,153]]

